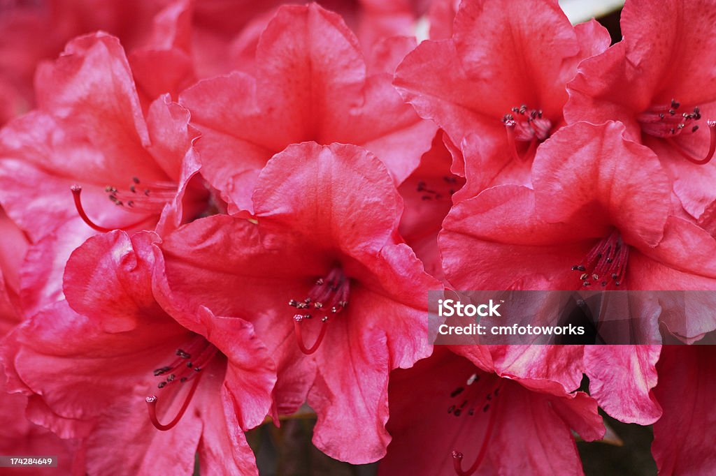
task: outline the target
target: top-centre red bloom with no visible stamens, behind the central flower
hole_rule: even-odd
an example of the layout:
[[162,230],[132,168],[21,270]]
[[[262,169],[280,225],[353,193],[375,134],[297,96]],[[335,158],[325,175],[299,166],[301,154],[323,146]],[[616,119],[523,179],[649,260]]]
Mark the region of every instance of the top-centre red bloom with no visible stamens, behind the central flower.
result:
[[227,202],[249,209],[266,161],[304,141],[364,146],[402,182],[430,148],[435,126],[403,104],[390,81],[387,73],[367,75],[339,16],[316,4],[284,6],[261,35],[256,77],[201,81],[180,102],[202,133],[203,176]]

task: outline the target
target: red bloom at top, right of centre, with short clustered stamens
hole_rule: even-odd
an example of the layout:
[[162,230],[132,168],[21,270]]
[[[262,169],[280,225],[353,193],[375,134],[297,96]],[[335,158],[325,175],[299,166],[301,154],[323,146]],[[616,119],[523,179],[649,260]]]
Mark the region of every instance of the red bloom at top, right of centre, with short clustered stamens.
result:
[[465,154],[460,199],[493,184],[529,184],[536,147],[563,123],[566,82],[609,35],[594,21],[572,27],[546,0],[463,1],[453,31],[409,54],[395,86]]

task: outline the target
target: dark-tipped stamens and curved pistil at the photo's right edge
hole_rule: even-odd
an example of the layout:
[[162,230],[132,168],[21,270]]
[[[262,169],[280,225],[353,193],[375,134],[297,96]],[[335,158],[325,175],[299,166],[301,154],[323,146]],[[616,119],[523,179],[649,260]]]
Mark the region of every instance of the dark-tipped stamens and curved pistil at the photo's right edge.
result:
[[691,112],[679,114],[680,106],[679,101],[672,99],[668,106],[654,106],[642,112],[637,116],[637,121],[641,124],[644,134],[666,139],[679,154],[690,162],[699,165],[707,164],[716,152],[716,121],[708,120],[706,122],[710,133],[710,147],[704,157],[697,157],[690,150],[684,149],[681,144],[674,141],[674,137],[684,137],[697,132],[699,125],[696,122],[701,119],[701,113],[696,106]]

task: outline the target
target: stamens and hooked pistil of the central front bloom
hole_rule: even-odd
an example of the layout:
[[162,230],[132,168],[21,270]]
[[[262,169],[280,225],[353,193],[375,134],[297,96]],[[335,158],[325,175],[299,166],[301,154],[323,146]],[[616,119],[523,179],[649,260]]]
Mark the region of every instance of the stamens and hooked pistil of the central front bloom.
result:
[[[343,274],[340,267],[334,267],[326,274],[326,277],[316,279],[314,287],[309,291],[306,299],[296,301],[291,299],[289,306],[300,310],[300,314],[294,314],[294,332],[301,352],[313,354],[326,336],[329,315],[339,314],[348,306],[348,295],[350,292],[350,279]],[[301,326],[306,319],[316,316],[321,317],[321,330],[316,342],[311,347],[304,344]]]

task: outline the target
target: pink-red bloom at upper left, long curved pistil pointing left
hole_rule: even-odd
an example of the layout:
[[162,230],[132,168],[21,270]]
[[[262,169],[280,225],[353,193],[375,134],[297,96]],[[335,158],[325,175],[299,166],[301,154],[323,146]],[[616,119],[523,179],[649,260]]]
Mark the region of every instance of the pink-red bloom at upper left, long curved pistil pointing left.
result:
[[[111,36],[72,41],[39,69],[37,94],[38,109],[0,132],[0,202],[34,242],[22,279],[28,314],[62,297],[64,262],[96,231],[176,226],[198,169],[188,112],[161,97],[145,114]],[[207,193],[188,190],[191,216]]]

